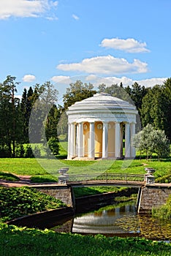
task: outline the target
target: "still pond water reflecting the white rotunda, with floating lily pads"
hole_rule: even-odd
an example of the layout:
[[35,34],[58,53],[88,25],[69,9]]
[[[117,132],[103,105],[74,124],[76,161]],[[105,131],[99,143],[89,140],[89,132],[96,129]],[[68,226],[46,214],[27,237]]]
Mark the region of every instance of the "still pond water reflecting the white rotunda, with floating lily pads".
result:
[[103,234],[104,236],[139,236],[152,240],[171,240],[171,223],[140,216],[132,203],[107,206],[98,211],[75,216],[61,226],[52,228],[56,232]]

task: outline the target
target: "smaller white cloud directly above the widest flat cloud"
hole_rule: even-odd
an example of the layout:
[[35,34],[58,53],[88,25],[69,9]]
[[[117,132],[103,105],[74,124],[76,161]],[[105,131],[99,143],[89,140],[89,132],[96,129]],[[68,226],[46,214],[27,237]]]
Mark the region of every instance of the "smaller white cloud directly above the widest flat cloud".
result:
[[150,51],[146,48],[147,46],[146,42],[138,42],[133,38],[128,38],[128,39],[105,38],[102,40],[100,46],[105,48],[113,48],[116,50],[124,50],[128,53],[147,53]]

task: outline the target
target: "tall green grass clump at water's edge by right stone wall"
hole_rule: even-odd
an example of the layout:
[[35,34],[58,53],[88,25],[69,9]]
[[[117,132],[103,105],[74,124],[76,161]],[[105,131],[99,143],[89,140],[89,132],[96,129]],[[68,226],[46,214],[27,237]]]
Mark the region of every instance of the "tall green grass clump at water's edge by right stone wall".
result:
[[167,199],[167,203],[159,208],[153,208],[152,214],[159,219],[171,219],[171,195]]

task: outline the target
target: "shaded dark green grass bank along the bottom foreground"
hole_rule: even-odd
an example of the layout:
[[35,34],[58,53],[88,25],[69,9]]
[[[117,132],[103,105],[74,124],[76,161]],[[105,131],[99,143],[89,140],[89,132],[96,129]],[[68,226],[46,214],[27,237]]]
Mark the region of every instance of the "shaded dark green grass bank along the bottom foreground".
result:
[[137,256],[170,255],[171,245],[144,238],[81,236],[1,225],[0,255]]

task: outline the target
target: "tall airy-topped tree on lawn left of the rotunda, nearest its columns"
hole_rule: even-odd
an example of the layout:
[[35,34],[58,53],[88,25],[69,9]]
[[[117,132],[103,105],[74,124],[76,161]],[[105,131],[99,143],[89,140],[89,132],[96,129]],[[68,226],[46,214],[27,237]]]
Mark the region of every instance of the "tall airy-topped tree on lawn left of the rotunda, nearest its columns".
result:
[[[31,100],[34,101],[34,105],[29,118],[29,138],[34,143],[42,141],[46,144],[46,140],[50,138],[52,132],[54,135],[54,127],[57,127],[57,124],[53,124],[54,116],[52,113],[57,118],[58,113],[57,111],[54,113],[53,110],[55,109],[54,104],[58,100],[58,90],[54,88],[50,81],[45,82],[42,86],[37,84],[34,87]],[[50,110],[51,108],[53,110]]]

